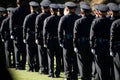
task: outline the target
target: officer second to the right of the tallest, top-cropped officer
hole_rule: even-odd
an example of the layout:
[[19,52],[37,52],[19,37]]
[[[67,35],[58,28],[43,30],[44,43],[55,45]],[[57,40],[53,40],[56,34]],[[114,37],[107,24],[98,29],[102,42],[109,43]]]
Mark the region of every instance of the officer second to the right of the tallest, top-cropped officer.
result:
[[38,46],[38,57],[39,57],[39,72],[46,74],[48,73],[48,57],[47,57],[47,50],[43,45],[43,23],[44,20],[50,16],[49,12],[49,3],[48,2],[41,2],[41,11],[37,17],[35,22],[35,39]]

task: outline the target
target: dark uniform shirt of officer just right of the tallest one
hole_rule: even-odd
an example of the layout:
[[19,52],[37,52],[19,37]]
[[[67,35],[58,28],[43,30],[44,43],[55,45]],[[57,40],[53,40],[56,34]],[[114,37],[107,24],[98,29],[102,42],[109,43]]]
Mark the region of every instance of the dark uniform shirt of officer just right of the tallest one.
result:
[[[38,14],[34,11],[27,15],[23,24],[23,38],[27,40],[34,40],[35,42],[35,19]],[[28,35],[26,35],[28,34]]]

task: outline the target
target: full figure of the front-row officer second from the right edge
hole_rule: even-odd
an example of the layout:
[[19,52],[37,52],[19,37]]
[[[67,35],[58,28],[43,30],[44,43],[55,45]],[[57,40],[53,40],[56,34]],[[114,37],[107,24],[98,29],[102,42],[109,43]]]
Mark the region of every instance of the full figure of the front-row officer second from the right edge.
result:
[[95,80],[110,80],[110,26],[111,21],[106,18],[108,7],[105,4],[98,5],[99,18],[96,18],[90,31],[90,44],[95,56],[96,75]]

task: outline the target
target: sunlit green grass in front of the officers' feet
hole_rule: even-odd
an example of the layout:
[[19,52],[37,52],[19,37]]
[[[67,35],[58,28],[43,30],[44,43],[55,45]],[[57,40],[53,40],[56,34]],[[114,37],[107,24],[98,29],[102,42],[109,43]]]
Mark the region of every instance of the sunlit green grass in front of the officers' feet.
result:
[[14,80],[63,80],[64,73],[61,73],[60,78],[49,78],[48,75],[39,74],[38,72],[27,72],[27,70],[15,70],[10,68]]

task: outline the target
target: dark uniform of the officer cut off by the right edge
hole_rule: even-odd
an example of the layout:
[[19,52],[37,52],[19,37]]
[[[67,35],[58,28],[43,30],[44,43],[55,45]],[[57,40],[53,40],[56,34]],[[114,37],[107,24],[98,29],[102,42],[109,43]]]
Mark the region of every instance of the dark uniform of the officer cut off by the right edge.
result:
[[120,80],[120,19],[111,26],[110,50],[113,56],[115,80]]

